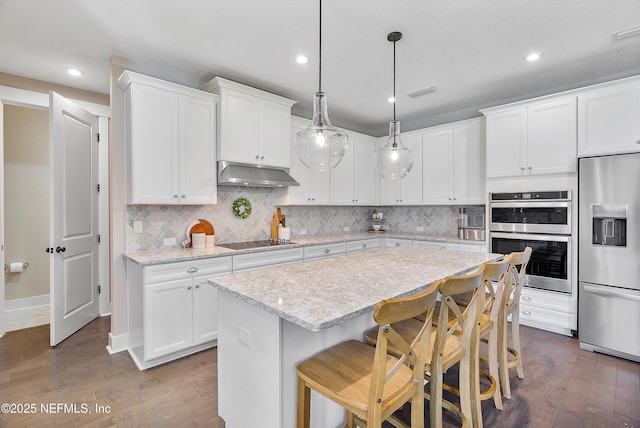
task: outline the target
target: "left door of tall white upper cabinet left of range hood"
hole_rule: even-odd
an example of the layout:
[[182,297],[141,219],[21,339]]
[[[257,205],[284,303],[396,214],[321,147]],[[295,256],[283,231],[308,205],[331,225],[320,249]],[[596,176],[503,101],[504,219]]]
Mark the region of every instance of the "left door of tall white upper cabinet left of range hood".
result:
[[132,83],[130,91],[131,204],[178,202],[178,94]]

